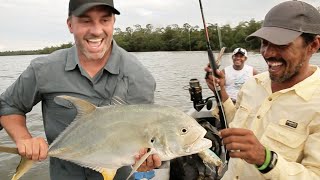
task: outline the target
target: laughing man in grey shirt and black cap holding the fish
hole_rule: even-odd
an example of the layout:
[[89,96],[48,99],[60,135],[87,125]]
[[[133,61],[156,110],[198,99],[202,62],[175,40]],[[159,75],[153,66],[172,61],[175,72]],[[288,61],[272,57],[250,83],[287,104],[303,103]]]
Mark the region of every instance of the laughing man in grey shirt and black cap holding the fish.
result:
[[[70,0],[67,25],[75,45],[34,59],[1,95],[0,123],[16,143],[20,155],[34,161],[47,157],[46,140],[32,137],[26,127],[26,113],[40,101],[49,144],[77,114],[72,104],[64,108],[57,105],[54,98],[58,95],[75,96],[98,107],[110,105],[115,96],[129,104],[154,102],[154,78],[113,40],[116,14],[120,13],[114,8],[113,0]],[[137,152],[136,160],[144,153],[144,149],[140,155]],[[139,170],[160,165],[159,157],[151,155]],[[130,171],[130,167],[119,169],[115,179],[125,179]],[[50,158],[50,177],[52,180],[102,179],[94,170],[57,158]]]

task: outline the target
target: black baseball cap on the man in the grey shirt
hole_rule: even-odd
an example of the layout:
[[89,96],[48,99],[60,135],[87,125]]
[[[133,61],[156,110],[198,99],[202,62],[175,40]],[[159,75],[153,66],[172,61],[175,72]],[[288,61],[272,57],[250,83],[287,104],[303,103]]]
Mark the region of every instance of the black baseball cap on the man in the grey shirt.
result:
[[80,16],[90,8],[99,5],[109,6],[114,14],[120,14],[120,12],[114,8],[113,0],[70,0],[69,16],[71,14],[75,16]]

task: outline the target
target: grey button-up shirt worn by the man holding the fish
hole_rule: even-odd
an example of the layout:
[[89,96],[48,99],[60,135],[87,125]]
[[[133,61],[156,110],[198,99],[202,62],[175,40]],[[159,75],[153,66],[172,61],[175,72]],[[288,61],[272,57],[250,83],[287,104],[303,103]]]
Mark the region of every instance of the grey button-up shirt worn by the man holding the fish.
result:
[[[118,96],[129,104],[146,104],[154,102],[155,87],[151,73],[115,41],[107,64],[93,78],[80,67],[77,50],[73,46],[32,60],[28,68],[1,95],[0,116],[25,115],[41,101],[45,134],[50,144],[77,113],[71,104],[65,107],[56,104],[54,97],[75,96],[96,106],[107,106],[112,97]],[[75,179],[81,179],[81,176],[83,179],[86,176],[102,179],[94,171],[55,158],[50,159],[50,176],[52,180],[69,180],[73,176]]]

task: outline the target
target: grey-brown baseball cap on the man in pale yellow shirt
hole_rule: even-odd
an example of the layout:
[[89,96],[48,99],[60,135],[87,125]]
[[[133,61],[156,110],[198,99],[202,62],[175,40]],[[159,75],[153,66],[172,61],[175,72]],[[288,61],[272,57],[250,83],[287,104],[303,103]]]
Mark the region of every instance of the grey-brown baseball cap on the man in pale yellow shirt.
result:
[[265,16],[262,27],[249,35],[276,45],[286,45],[302,33],[320,34],[320,13],[302,1],[286,1],[273,7]]

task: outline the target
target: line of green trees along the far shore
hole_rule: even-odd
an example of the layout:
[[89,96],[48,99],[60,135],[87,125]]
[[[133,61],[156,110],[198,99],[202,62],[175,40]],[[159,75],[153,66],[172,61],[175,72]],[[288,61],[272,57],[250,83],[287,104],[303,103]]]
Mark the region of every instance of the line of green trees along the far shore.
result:
[[[262,21],[256,22],[252,19],[250,21],[240,22],[234,28],[228,24],[219,27],[222,46],[227,47],[226,52],[230,52],[236,47],[243,47],[254,51],[258,50],[260,48],[260,41],[258,39],[246,42],[245,38],[259,29],[261,24]],[[217,24],[208,23],[207,28],[211,48],[219,51],[220,45]],[[125,31],[122,31],[120,28],[115,28],[114,39],[119,46],[129,52],[207,50],[204,29],[188,23],[183,24],[182,27],[179,27],[177,24],[172,24],[165,28],[154,28],[151,24],[142,27],[137,24],[133,27],[127,27]],[[68,43],[33,51],[5,51],[0,52],[0,56],[49,54],[58,49],[71,46],[72,43]]]

